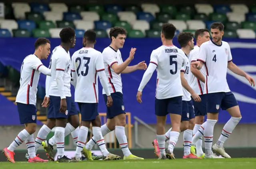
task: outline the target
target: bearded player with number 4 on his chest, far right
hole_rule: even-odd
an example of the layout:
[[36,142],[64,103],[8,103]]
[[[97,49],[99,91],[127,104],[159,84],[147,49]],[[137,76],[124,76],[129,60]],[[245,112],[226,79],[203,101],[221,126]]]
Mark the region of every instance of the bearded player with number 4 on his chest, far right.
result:
[[[254,79],[232,62],[230,46],[227,42],[222,41],[223,30],[224,25],[220,22],[214,22],[211,25],[212,40],[200,46],[197,61],[191,63],[198,70],[203,65],[206,67],[204,87],[207,99],[207,121],[204,128],[206,158],[220,158],[212,153],[212,148],[223,157],[230,158],[225,152],[223,144],[242,118],[238,102],[228,87],[226,80],[227,68],[235,74],[245,77],[251,85],[255,86]],[[231,118],[224,125],[220,138],[212,147],[213,129],[217,123],[220,108],[227,110]]]

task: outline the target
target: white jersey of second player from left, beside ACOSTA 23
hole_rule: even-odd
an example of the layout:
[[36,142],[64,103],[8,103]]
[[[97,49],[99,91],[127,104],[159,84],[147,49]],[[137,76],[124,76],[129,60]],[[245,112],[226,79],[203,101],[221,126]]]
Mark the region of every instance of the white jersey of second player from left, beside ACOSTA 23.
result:
[[[48,91],[49,95],[60,96],[61,99],[71,97],[70,93],[70,54],[62,46],[54,48],[51,56],[50,69],[52,82]],[[60,82],[56,82],[60,80]]]

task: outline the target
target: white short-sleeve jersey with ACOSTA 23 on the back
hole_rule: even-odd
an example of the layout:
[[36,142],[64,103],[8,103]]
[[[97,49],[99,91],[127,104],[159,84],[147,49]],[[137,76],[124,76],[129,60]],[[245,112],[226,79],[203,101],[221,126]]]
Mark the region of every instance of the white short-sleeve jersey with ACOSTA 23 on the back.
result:
[[71,58],[71,71],[76,72],[75,101],[98,103],[98,74],[104,71],[101,52],[94,48],[82,48]]

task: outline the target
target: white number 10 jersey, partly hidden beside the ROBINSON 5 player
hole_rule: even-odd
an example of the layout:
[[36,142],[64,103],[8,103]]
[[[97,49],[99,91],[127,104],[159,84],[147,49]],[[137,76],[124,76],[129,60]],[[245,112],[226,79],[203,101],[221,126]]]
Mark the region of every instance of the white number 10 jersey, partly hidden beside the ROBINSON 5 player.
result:
[[[186,62],[184,64],[184,66],[182,66],[180,72],[184,72],[184,78],[186,79],[186,81],[190,85],[190,76],[191,76],[192,73],[190,71],[190,62],[188,60],[188,57],[189,56],[186,57]],[[182,87],[182,89],[183,89],[182,100],[183,101],[190,101],[191,100],[191,94],[184,87]]]

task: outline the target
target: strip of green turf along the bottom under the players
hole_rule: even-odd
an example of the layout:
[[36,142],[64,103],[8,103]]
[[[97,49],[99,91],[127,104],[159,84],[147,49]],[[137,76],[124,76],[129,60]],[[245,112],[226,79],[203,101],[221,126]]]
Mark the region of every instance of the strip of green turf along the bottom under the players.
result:
[[[88,168],[87,168],[88,167]],[[255,169],[256,158],[83,161],[79,163],[1,162],[0,169]]]

